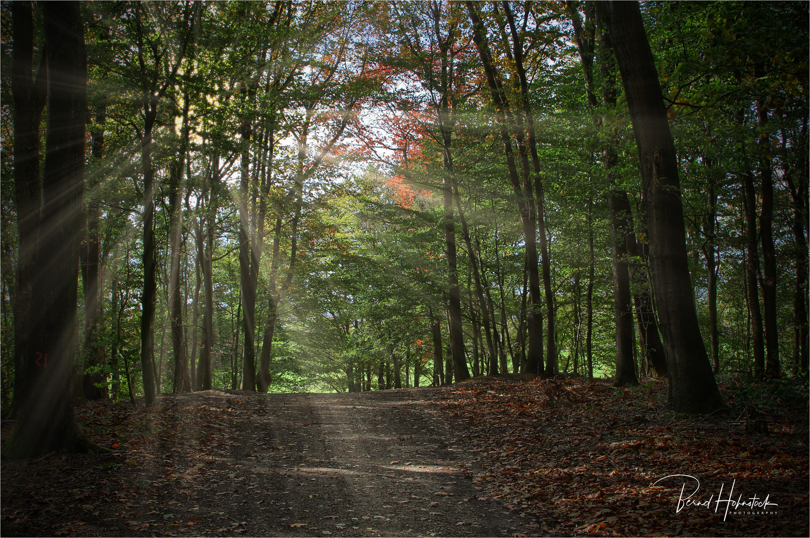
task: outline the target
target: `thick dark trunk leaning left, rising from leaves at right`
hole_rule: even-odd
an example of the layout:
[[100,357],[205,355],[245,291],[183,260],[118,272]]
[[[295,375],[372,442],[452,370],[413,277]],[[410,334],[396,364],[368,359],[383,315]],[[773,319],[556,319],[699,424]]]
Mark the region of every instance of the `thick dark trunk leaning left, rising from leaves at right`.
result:
[[597,3],[611,34],[641,165],[650,269],[669,369],[669,406],[711,413],[725,404],[703,345],[689,276],[675,146],[637,2]]

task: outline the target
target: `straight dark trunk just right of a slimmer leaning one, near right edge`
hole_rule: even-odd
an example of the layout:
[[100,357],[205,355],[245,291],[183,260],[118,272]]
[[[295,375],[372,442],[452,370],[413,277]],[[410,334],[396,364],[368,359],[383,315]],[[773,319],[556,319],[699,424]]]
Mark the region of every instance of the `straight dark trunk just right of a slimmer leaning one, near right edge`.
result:
[[[754,76],[765,76],[756,68]],[[757,72],[758,71],[758,72]],[[770,136],[766,132],[768,108],[765,100],[757,100],[757,120],[759,135],[759,173],[761,180],[762,207],[759,218],[760,240],[762,243],[762,306],[765,310],[765,376],[779,377],[779,333],[777,327],[776,304],[776,248],[774,247],[774,177],[770,164]]]

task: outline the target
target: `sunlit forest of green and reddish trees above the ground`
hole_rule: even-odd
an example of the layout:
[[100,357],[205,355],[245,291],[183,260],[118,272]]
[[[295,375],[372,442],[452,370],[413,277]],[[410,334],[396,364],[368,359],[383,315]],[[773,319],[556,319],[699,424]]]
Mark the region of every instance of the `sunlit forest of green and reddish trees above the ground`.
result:
[[3,460],[114,455],[92,409],[496,382],[806,451],[808,21],[2,2]]

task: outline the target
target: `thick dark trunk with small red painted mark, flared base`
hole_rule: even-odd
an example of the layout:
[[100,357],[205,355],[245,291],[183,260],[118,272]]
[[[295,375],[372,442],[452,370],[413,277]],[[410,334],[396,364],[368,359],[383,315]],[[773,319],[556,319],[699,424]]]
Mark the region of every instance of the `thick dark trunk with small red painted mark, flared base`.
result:
[[[25,8],[16,11],[23,19],[30,13]],[[60,449],[99,450],[79,434],[71,383],[77,343],[87,112],[79,2],[46,2],[43,19],[49,74],[42,212],[35,255],[41,263],[36,265],[32,282],[37,313],[31,354],[25,358],[29,368],[23,400],[11,438],[3,447],[6,458],[30,458]]]

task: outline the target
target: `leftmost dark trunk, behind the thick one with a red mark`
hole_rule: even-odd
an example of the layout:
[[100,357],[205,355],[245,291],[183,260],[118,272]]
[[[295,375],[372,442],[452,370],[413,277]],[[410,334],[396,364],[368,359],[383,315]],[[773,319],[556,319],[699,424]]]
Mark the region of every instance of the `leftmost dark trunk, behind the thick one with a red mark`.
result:
[[11,2],[13,34],[11,96],[14,102],[14,205],[17,214],[17,290],[14,308],[14,396],[11,417],[16,417],[28,394],[26,383],[35,375],[32,280],[36,269],[40,205],[40,118],[45,107],[47,54],[42,54],[36,81],[32,78],[34,21],[31,2]]

